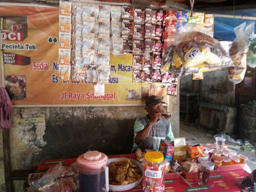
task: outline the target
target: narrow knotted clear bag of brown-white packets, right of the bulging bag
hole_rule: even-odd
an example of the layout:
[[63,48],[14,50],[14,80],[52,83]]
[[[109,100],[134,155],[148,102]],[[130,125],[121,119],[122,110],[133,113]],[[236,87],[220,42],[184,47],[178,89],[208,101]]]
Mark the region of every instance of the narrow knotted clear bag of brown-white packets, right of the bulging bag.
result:
[[229,48],[229,55],[234,66],[228,68],[228,79],[235,84],[241,82],[246,71],[246,52],[249,47],[249,36],[254,31],[254,22],[245,22],[234,28],[236,38]]

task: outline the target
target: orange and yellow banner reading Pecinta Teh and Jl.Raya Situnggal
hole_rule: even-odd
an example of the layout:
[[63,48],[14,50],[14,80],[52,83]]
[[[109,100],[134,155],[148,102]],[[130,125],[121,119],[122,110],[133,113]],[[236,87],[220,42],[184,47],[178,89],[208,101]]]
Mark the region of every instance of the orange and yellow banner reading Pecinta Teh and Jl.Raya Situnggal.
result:
[[58,12],[47,6],[0,5],[3,17],[5,88],[14,105],[140,105],[162,89],[131,82],[132,56],[110,56],[105,95],[86,81],[61,81],[58,73]]

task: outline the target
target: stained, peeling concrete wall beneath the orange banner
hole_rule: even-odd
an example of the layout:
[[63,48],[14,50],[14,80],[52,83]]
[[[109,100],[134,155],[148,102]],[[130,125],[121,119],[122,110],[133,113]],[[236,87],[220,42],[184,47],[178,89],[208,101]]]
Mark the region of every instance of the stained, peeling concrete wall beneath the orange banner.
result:
[[[171,102],[178,103],[175,98]],[[169,107],[172,118],[178,111]],[[19,120],[45,115],[45,126]],[[11,167],[26,169],[42,159],[76,157],[88,149],[107,154],[129,153],[133,123],[145,115],[144,106],[123,107],[15,107],[10,129]],[[171,121],[178,136],[177,120]],[[178,122],[179,123],[179,122]],[[2,149],[0,145],[0,149]],[[0,152],[0,171],[3,171]],[[0,185],[4,182],[0,174]],[[23,182],[15,182],[15,191],[22,191]],[[3,191],[3,189],[0,191]]]

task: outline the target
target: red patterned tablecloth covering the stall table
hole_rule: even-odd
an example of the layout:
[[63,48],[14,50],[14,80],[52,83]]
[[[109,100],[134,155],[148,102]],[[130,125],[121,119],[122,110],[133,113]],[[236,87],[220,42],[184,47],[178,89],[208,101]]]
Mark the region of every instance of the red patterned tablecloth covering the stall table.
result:
[[[135,159],[134,154],[120,154],[120,155],[108,155],[109,158],[126,157]],[[62,162],[63,165],[70,165],[76,161],[76,158],[65,158],[65,159],[54,159],[54,160],[43,160],[40,162],[37,172],[46,170],[50,166]],[[192,187],[188,185],[182,179],[165,180],[165,192],[178,192],[178,191],[207,191],[207,192],[239,192],[240,182],[244,176],[248,175],[243,169],[217,172],[215,177],[211,177],[206,186],[199,186],[196,179],[187,179]],[[200,187],[200,188],[197,188]],[[125,192],[139,192],[142,191],[141,183]]]

